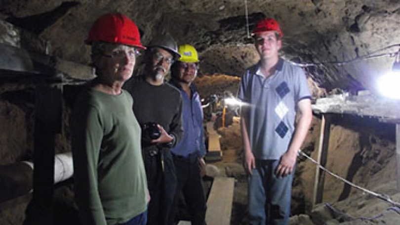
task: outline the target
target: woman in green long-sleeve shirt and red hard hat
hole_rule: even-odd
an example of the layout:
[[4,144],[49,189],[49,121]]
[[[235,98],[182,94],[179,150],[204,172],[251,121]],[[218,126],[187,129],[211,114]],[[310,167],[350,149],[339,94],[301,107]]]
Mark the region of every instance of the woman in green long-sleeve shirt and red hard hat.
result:
[[75,194],[84,225],[145,225],[149,194],[140,126],[122,85],[132,76],[140,43],[136,24],[120,13],[99,17],[85,41],[97,77],[71,118]]

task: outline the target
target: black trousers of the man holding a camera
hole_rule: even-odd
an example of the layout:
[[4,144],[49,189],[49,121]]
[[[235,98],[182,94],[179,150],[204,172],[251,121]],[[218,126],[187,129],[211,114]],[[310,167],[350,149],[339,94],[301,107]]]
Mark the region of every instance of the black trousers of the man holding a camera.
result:
[[176,192],[175,166],[170,151],[151,156],[143,153],[150,202],[147,225],[172,225],[173,200]]

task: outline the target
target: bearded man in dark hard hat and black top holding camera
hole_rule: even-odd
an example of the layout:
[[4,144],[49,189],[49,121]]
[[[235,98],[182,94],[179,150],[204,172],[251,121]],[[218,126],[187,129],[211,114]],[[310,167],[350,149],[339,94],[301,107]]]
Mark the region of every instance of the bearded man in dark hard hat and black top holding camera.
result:
[[179,57],[170,35],[157,36],[147,46],[144,73],[126,86],[142,126],[142,154],[151,197],[148,225],[171,225],[173,219],[170,214],[177,181],[170,149],[183,134],[182,99],[179,90],[164,78]]

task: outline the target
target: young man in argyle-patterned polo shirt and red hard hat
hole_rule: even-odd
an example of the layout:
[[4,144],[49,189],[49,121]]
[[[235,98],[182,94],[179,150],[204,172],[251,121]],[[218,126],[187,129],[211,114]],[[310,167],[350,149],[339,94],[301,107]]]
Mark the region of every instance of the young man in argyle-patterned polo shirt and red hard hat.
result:
[[[250,225],[288,225],[297,153],[312,120],[303,70],[279,57],[282,31],[272,18],[253,30],[260,61],[241,77],[244,169]],[[295,126],[295,118],[299,116]]]

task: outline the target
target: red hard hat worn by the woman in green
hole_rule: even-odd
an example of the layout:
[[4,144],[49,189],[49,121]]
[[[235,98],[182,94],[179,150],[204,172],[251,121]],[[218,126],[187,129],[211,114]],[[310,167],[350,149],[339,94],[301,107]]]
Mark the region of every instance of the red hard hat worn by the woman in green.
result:
[[95,41],[146,49],[140,43],[140,34],[136,24],[121,13],[104,14],[93,23],[85,43],[90,45]]

